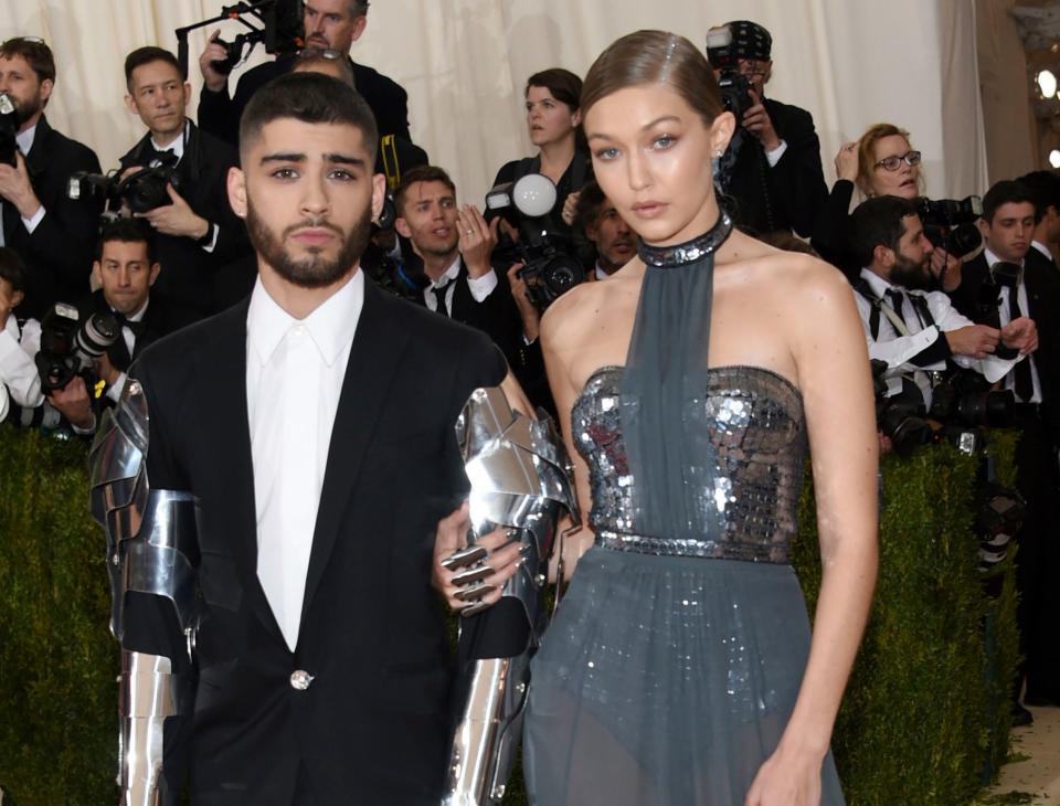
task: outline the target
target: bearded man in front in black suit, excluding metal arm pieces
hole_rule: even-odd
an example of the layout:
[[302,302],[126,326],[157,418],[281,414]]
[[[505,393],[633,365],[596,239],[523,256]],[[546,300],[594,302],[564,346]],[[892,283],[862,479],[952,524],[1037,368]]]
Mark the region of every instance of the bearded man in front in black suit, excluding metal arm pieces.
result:
[[186,772],[193,806],[441,798],[452,669],[435,528],[467,486],[456,417],[506,367],[484,335],[364,280],[384,198],[375,141],[368,106],[330,76],[257,93],[229,181],[258,254],[254,291],[130,371],[149,487],[190,492],[198,511],[194,641],[145,595],[119,633],[184,681],[166,804]]

